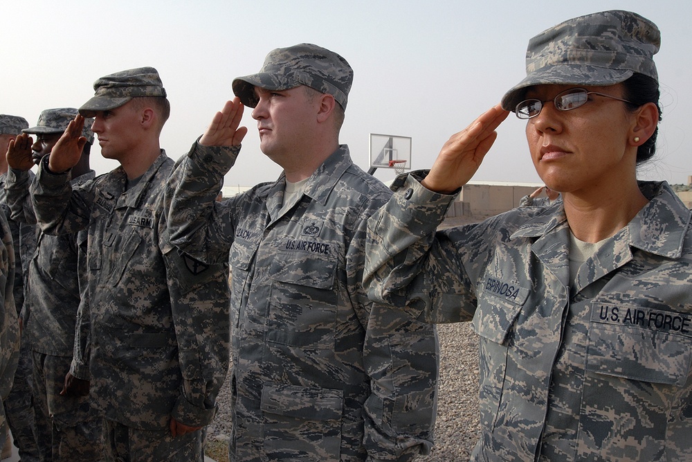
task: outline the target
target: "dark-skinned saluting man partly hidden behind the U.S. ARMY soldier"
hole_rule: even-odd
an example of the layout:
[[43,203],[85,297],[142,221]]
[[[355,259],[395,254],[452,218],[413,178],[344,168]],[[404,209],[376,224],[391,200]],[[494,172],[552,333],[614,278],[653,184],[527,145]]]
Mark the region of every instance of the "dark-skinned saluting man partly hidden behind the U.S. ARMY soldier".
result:
[[[46,109],[35,127],[22,130],[24,134],[10,142],[10,170],[5,186],[13,220],[36,224],[29,197],[29,169],[51,153],[77,114],[77,109],[69,107]],[[80,161],[72,168],[73,187],[95,176],[89,168],[92,122],[86,119],[83,125],[86,143]],[[35,143],[28,134],[37,136]],[[73,357],[75,323],[82,300],[80,288],[86,285],[86,255],[79,250],[80,243],[86,245],[86,237],[85,230],[61,236],[39,231],[27,272],[22,322],[33,351],[35,425],[42,461],[87,462],[103,458],[102,419],[89,405],[88,382],[86,393],[61,392]]]

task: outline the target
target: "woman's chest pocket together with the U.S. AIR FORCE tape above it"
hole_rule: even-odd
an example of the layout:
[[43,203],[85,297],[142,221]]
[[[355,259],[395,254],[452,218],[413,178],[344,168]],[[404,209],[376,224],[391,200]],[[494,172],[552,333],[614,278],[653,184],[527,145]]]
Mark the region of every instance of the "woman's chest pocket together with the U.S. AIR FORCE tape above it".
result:
[[673,441],[671,434],[677,430],[671,428],[680,425],[674,420],[684,412],[681,396],[689,393],[685,387],[690,380],[692,337],[689,331],[682,332],[681,319],[690,315],[622,306],[613,312],[612,308],[604,304],[592,308],[579,453],[592,460],[598,447],[598,459],[604,461],[625,460],[623,454],[634,461],[668,460],[662,456],[666,441]]

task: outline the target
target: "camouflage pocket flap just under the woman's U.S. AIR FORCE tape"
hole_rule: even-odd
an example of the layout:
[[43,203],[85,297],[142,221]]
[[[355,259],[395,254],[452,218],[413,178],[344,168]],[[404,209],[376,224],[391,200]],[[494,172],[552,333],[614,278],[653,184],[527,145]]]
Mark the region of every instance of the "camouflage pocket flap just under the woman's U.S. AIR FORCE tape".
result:
[[682,387],[689,375],[692,339],[670,332],[592,323],[590,372]]

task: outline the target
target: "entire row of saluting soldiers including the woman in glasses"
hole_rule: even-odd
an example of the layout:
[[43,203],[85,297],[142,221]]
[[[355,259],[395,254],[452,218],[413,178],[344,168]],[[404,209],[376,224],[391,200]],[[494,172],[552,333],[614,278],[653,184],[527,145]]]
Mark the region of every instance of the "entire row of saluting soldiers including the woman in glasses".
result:
[[[339,143],[353,71],[325,48],[277,48],[233,80],[235,98],[176,163],[158,143],[170,105],[156,70],[97,80],[34,179],[40,146],[19,134],[6,150],[10,217],[40,226],[24,303],[31,272],[48,271],[43,233],[76,233],[86,254],[64,384],[46,371],[66,361],[32,354],[34,382],[53,387],[39,443],[63,443],[50,393],[89,382],[104,459],[200,460],[230,351],[230,461],[410,461],[432,446],[431,324],[472,321],[472,460],[691,460],[691,214],[636,175],[655,153],[659,45],[655,24],[621,10],[545,30],[527,77],[393,195]],[[283,171],[219,202],[245,107]],[[437,231],[510,112],[561,200]],[[120,167],[76,184],[90,117]],[[0,371],[13,369],[6,343]]]

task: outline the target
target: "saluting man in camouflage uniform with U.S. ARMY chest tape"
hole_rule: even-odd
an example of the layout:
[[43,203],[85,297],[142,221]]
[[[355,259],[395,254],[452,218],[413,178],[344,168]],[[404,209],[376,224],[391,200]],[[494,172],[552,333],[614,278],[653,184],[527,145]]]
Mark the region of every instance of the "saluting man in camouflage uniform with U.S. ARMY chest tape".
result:
[[[159,136],[170,105],[156,69],[106,75],[94,90],[39,163],[34,210],[44,233],[89,235],[89,313],[79,321],[91,321],[91,338],[75,347],[91,348],[106,459],[199,461],[201,427],[228,368],[228,334],[217,335],[228,331],[227,266],[201,265],[168,240],[163,189],[173,161]],[[84,117],[95,118],[102,156],[120,166],[73,186]]]

